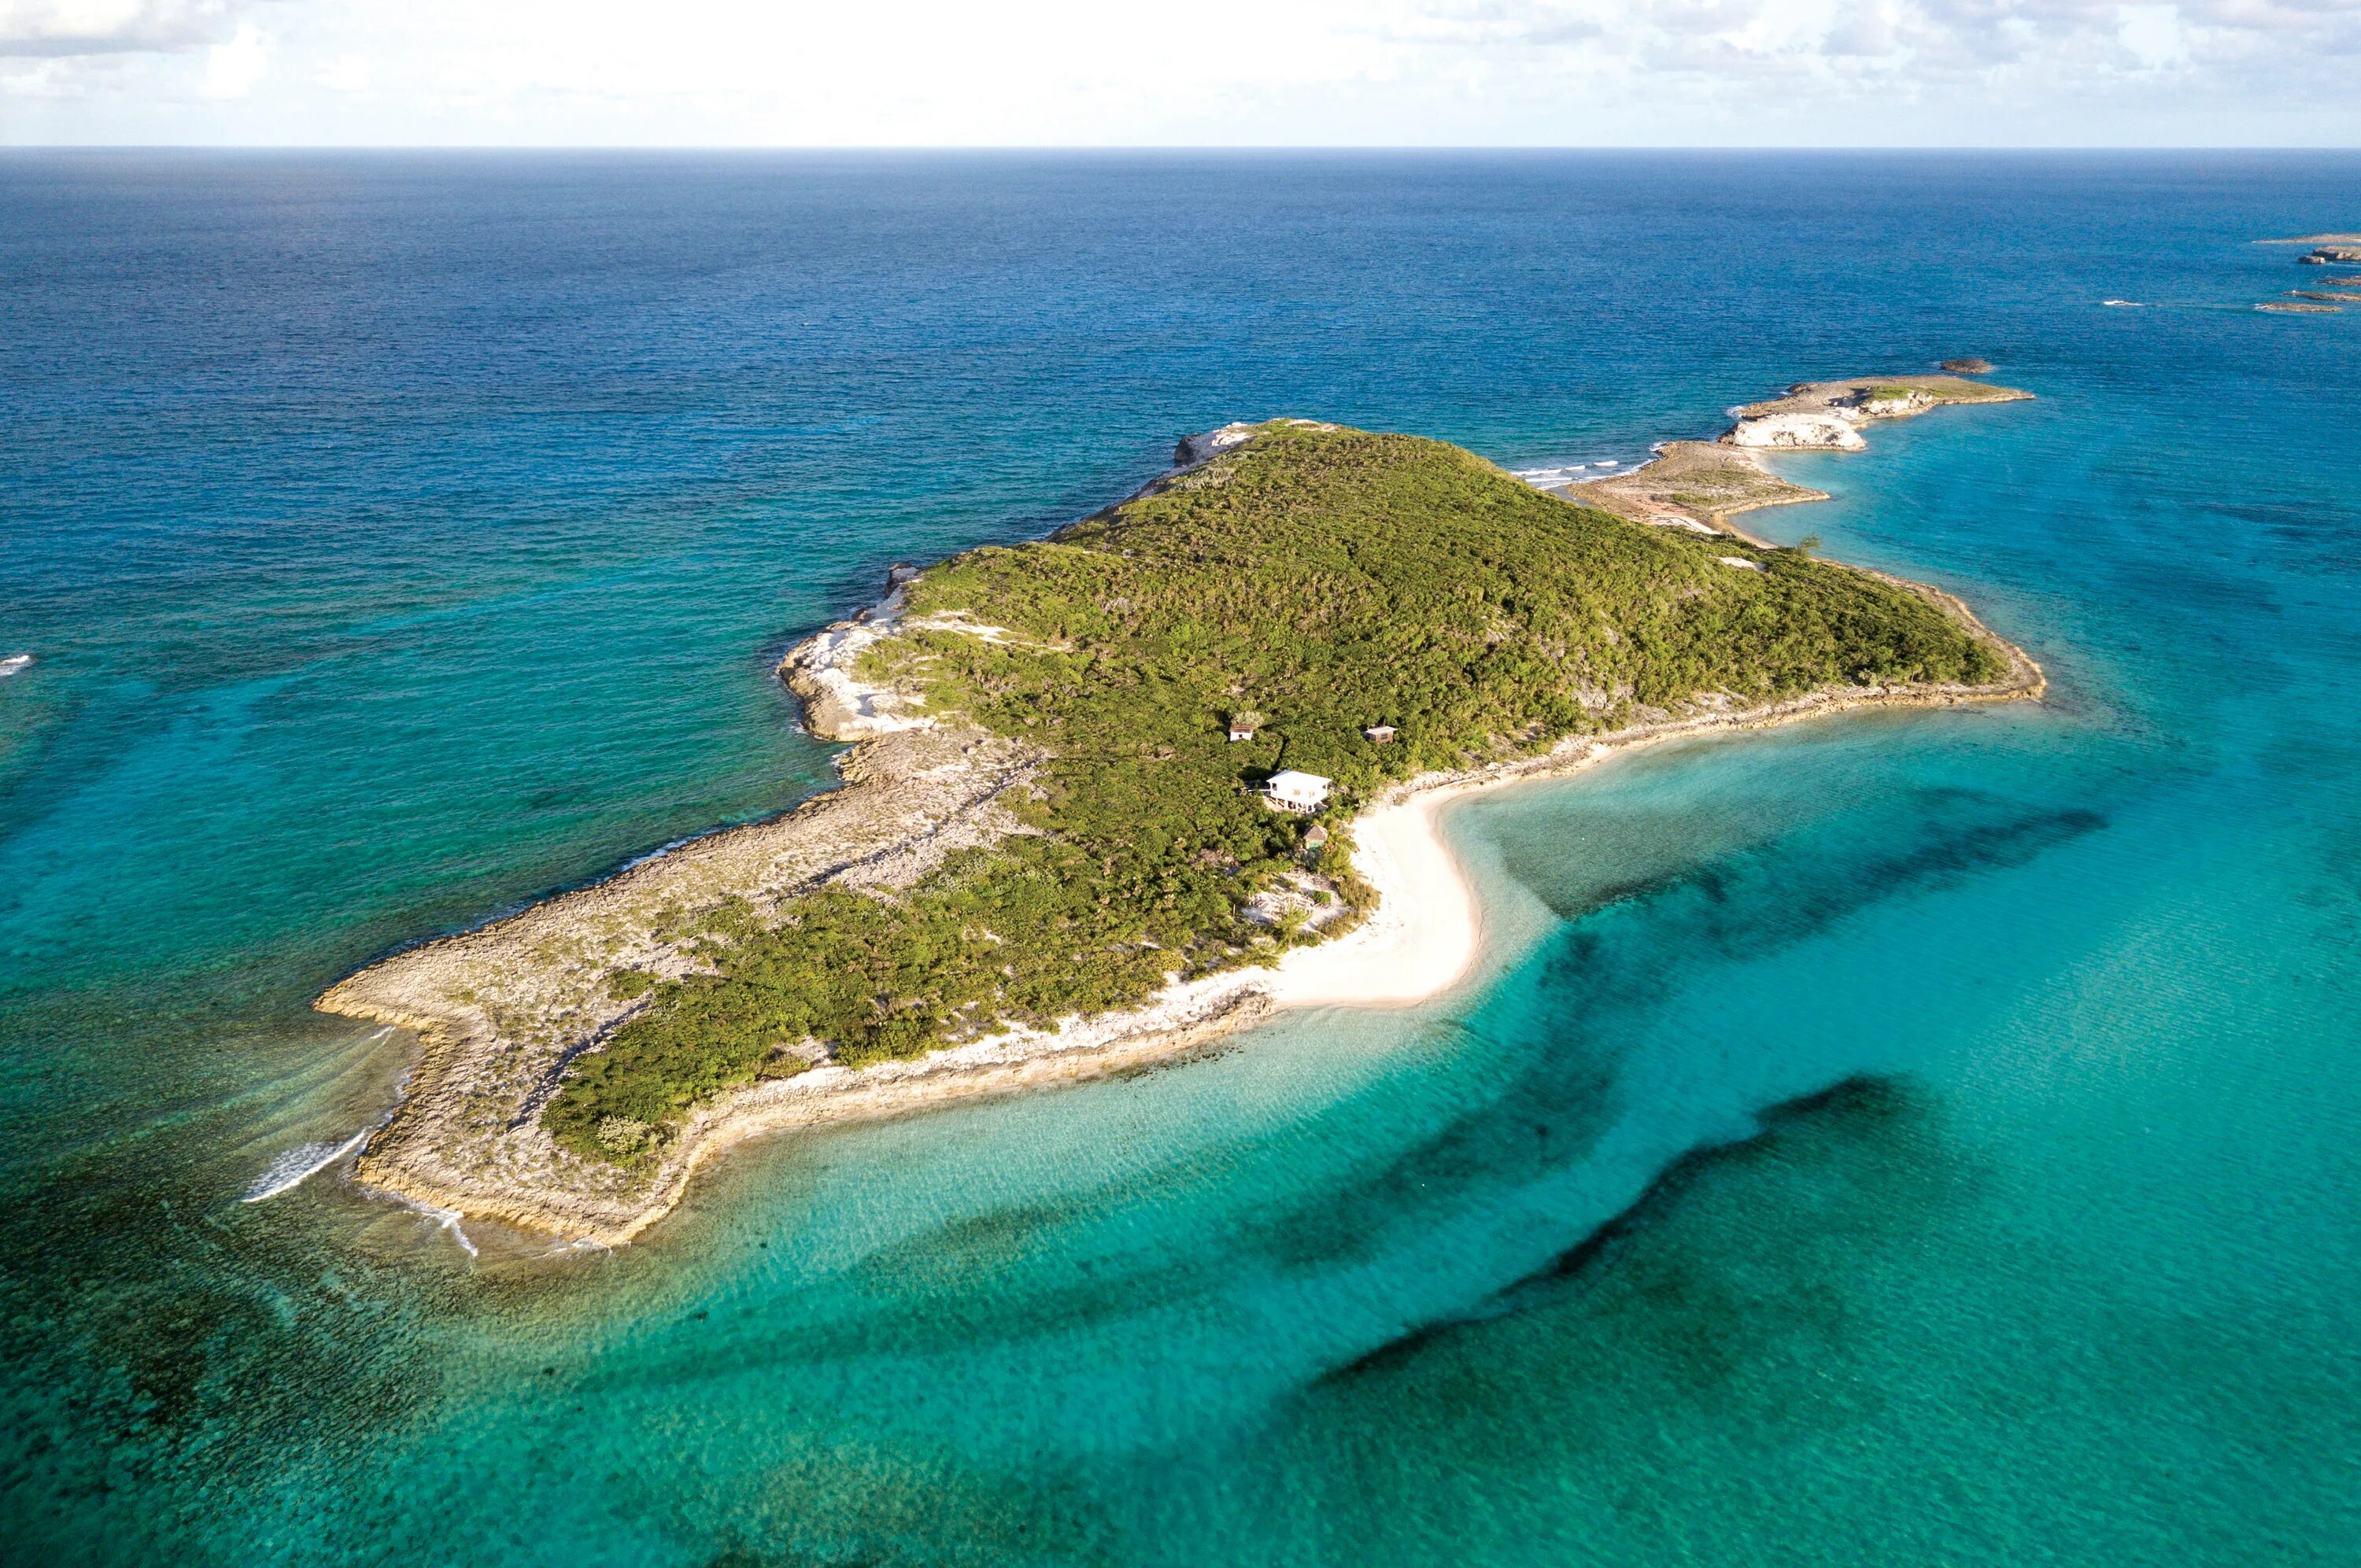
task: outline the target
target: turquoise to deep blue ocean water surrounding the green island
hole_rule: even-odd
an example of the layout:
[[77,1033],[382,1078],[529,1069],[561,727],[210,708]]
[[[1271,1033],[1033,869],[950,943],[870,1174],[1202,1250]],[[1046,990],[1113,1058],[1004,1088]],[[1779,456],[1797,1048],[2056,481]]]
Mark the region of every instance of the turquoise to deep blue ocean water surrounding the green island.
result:
[[[2361,156],[0,153],[0,1559],[2361,1561]],[[2104,307],[2101,300],[2139,307]],[[1478,796],[1483,973],[751,1145],[335,1169],[401,942],[831,782],[895,560],[1317,416],[1646,456],[2040,706]]]

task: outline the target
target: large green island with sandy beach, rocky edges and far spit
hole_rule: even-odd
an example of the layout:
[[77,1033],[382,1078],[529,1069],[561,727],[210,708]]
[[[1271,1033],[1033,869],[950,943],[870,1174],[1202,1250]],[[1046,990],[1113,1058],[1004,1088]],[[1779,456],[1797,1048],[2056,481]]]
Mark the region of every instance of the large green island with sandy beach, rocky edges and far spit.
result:
[[319,999],[420,1051],[357,1176],[616,1244],[753,1133],[1428,997],[1476,952],[1452,791],[2042,692],[1960,600],[1728,524],[1818,496],[1764,449],[2016,397],[1811,383],[1563,494],[1443,442],[1242,423],[1044,541],[897,567],[781,666],[850,744],[841,789]]

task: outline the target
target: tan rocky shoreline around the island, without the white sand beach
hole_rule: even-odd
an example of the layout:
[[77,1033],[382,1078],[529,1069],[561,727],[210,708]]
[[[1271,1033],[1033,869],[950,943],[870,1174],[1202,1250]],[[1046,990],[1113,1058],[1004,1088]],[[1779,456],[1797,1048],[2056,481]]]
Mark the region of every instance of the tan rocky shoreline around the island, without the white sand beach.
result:
[[[1948,385],[1927,383],[1955,378],[1813,383],[1742,411],[1738,430],[1750,420],[1794,413],[1834,418],[1853,430],[1945,401],[2028,397],[1976,383],[1957,383],[1971,394],[1953,394]],[[1908,394],[1894,397],[1896,387]],[[1178,465],[1147,489],[1185,482],[1197,460],[1240,439],[1251,439],[1251,427],[1230,425],[1190,437],[1176,453]],[[1735,529],[1728,529],[1728,512],[1820,498],[1820,491],[1787,486],[1768,475],[1747,444],[1726,439],[1674,446],[1724,456],[1683,458],[1667,449],[1646,470],[1568,486],[1563,494],[1643,522],[1679,520],[1681,527],[1731,534]],[[1724,489],[1700,505],[1695,486],[1714,475]],[[1672,491],[1667,479],[1681,479],[1686,489]],[[959,716],[926,713],[911,692],[874,685],[859,673],[862,654],[907,626],[902,588],[911,576],[897,569],[878,607],[824,628],[779,666],[805,701],[812,734],[857,741],[841,758],[843,789],[772,822],[692,841],[479,930],[394,954],[316,1001],[326,1013],[394,1025],[418,1037],[420,1060],[411,1089],[359,1155],[361,1181],[437,1211],[564,1240],[621,1244],[668,1214],[706,1159],[748,1136],[907,1115],[1129,1072],[1197,1051],[1275,1006],[1275,971],[1228,971],[1173,985],[1147,1006],[1124,1013],[1070,1018],[1051,1030],[1015,1030],[916,1060],[859,1070],[824,1063],[760,1082],[692,1112],[661,1157],[635,1167],[583,1159],[550,1138],[541,1126],[541,1108],[564,1079],[567,1065],[581,1051],[597,1048],[609,1030],[645,1006],[645,987],[633,992],[619,987],[616,978],[689,973],[696,966],[696,916],[725,900],[744,900],[760,914],[831,883],[909,888],[961,848],[1025,831],[1011,803],[1039,775],[1046,760],[1041,751],[973,727]],[[1613,734],[1572,737],[1525,760],[1426,775],[1388,791],[1369,810],[1440,789],[1561,775],[1620,749],[1683,734],[1766,727],[1860,706],[2040,697],[2040,668],[1986,631],[1957,597],[1919,583],[1884,581],[1927,597],[1990,642],[2007,659],[2009,673],[1983,687],[1832,687],[1754,708],[1695,704],[1693,711]],[[928,628],[1008,640],[1006,631],[966,619],[937,619]],[[1350,933],[1308,952],[1325,954],[1355,940],[1376,935]]]

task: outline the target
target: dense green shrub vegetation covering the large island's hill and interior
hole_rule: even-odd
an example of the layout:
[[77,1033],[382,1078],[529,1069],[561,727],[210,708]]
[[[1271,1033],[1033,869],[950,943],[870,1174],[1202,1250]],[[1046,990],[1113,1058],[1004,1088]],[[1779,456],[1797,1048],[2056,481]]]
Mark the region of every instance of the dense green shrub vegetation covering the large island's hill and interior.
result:
[[[642,1011],[550,1098],[567,1148],[633,1162],[760,1077],[1131,1006],[1332,935],[1367,893],[1343,836],[1310,829],[1419,772],[1716,701],[2007,673],[1905,586],[1572,505],[1443,442],[1303,423],[1048,541],[956,555],[907,600],[862,675],[1039,749],[1022,831],[897,893],[701,916],[711,973],[623,980]],[[1230,741],[1242,713],[1256,734]],[[1334,779],[1317,817],[1251,793],[1284,767]],[[1299,909],[1273,921],[1284,888]],[[1348,914],[1310,933],[1301,907]]]

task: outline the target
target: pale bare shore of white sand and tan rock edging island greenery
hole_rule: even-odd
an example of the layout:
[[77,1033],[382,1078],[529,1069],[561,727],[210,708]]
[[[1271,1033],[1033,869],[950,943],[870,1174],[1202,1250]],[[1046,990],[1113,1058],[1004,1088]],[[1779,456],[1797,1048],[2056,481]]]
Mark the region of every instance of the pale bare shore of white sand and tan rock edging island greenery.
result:
[[[1889,416],[1877,411],[1863,418]],[[1766,503],[1754,489],[1780,482],[1757,465],[1754,453],[1726,451],[1742,468],[1745,494],[1716,494],[1712,510]],[[1726,517],[1714,522],[1728,529]],[[862,647],[900,628],[902,600],[890,593],[874,612],[822,631],[781,664],[781,678],[807,704],[812,732],[859,741],[841,763],[845,786],[786,817],[699,838],[635,862],[607,883],[382,959],[319,999],[323,1011],[413,1032],[420,1051],[411,1093],[368,1138],[357,1174],[439,1214],[619,1244],[663,1219],[696,1169],[744,1138],[1138,1072],[1202,1051],[1282,1008],[1426,1004],[1464,982],[1483,954],[1478,890],[1440,829],[1443,815],[1464,796],[1565,775],[1631,746],[1688,734],[1754,730],[1863,706],[2040,697],[2040,668],[1986,631],[1957,597],[1870,576],[1922,595],[1988,640],[2007,659],[2007,675],[1981,687],[1823,687],[1752,708],[1728,694],[1707,694],[1686,713],[1610,734],[1568,737],[1539,756],[1419,775],[1367,801],[1346,827],[1355,871],[1374,888],[1376,902],[1343,935],[1273,952],[1273,961],[1261,966],[1173,980],[1126,1011],[1013,1027],[918,1058],[864,1067],[824,1060],[789,1077],[760,1079],[689,1110],[654,1162],[607,1164],[562,1150],[543,1126],[541,1108],[557,1093],[574,1056],[637,1006],[609,989],[604,978],[621,968],[656,978],[696,968],[694,926],[682,912],[722,897],[777,909],[819,886],[890,893],[916,886],[947,855],[1020,829],[1006,801],[1029,789],[1044,763],[1039,749],[956,716],[904,713],[900,692],[874,685],[859,671]],[[890,588],[900,586],[897,574]],[[966,621],[930,628],[963,635],[996,631]]]

